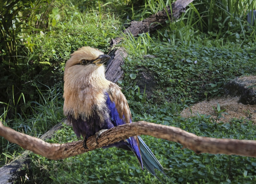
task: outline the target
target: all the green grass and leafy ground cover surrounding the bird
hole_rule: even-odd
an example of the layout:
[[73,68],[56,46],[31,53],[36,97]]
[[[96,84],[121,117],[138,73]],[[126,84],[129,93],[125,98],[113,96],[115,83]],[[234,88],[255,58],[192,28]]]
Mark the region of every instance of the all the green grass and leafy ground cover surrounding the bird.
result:
[[[18,8],[23,11],[15,11],[19,6],[13,3],[11,11],[17,16],[16,22],[11,21],[12,26],[23,25],[25,31],[14,31],[16,37],[9,38],[8,28],[2,26],[5,33],[2,36],[16,39],[15,47],[19,49],[8,53],[9,42],[6,47],[1,42],[1,89],[7,92],[1,98],[1,119],[6,126],[36,137],[64,118],[62,77],[70,53],[85,45],[107,51],[111,38],[122,35],[124,23],[146,18],[170,4],[169,1],[15,2],[23,5]],[[233,1],[198,1],[189,6],[179,21],[166,21],[167,25],[156,32],[138,37],[122,35],[124,40],[116,47],[124,47],[128,57],[122,66],[124,78],[118,84],[129,102],[133,121],[180,127],[198,136],[255,140],[255,126],[243,118],[216,125],[204,114],[189,119],[180,116],[181,110],[191,103],[221,96],[221,88],[228,80],[255,74],[256,28],[245,21],[244,11],[244,6],[255,8],[255,2],[235,2],[237,9],[233,8]],[[2,12],[1,9],[1,21],[7,18]],[[28,19],[33,26],[23,22],[28,12],[34,13],[35,18]],[[36,24],[37,20],[40,24]],[[15,26],[12,30],[16,30]],[[23,57],[12,60],[13,55]],[[156,73],[158,87],[152,96],[146,96],[144,88],[136,85],[140,67]],[[180,150],[182,146],[178,143],[150,136],[142,138],[172,180],[157,173],[163,183],[256,182],[254,158],[197,155],[188,149]],[[48,142],[74,140],[72,128],[65,126]],[[1,166],[22,151],[3,138],[1,148]],[[131,152],[116,148],[94,150],[60,161],[30,156],[29,180],[23,177],[19,183],[160,183],[140,169]]]

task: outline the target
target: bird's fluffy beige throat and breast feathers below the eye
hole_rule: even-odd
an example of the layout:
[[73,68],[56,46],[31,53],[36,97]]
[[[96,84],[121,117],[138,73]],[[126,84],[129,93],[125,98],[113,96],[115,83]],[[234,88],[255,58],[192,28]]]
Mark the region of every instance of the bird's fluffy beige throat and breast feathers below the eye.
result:
[[105,109],[105,92],[110,81],[105,78],[103,65],[89,64],[84,69],[81,67],[83,66],[76,65],[65,68],[63,111],[66,116],[72,115],[75,119],[85,120],[95,110]]

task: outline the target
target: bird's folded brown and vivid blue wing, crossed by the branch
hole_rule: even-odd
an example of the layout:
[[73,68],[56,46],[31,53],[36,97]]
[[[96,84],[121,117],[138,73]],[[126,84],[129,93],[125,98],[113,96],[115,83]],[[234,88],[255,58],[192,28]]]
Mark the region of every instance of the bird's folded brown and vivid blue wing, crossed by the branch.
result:
[[[121,88],[114,83],[110,83],[106,95],[108,97],[106,103],[109,108],[110,119],[114,126],[131,123],[132,114]],[[133,136],[126,140],[138,158],[140,166],[143,169],[138,137]]]

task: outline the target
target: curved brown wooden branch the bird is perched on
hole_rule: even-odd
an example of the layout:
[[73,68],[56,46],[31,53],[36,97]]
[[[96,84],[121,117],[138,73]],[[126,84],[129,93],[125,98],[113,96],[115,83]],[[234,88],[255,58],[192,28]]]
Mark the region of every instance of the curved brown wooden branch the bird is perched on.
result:
[[19,144],[24,149],[54,160],[76,156],[124,140],[130,136],[142,134],[180,143],[184,148],[193,150],[198,154],[222,153],[256,157],[256,141],[253,140],[201,137],[180,128],[146,121],[138,121],[109,129],[100,135],[97,140],[98,144],[96,143],[96,138],[91,136],[86,142],[89,149],[83,148],[83,140],[64,144],[46,143],[36,137],[28,136],[5,127],[0,121],[0,136],[3,136],[12,143]]

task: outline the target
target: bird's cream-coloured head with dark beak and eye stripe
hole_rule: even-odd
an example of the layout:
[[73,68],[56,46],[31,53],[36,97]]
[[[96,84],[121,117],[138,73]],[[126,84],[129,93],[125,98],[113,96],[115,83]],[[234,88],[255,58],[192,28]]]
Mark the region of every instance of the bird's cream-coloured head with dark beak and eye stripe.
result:
[[[105,79],[105,68],[102,65],[110,59],[110,56],[96,48],[82,47],[71,54],[67,61],[64,81],[72,83],[75,87],[84,87],[84,84],[96,83]],[[98,79],[98,80],[97,80]]]

